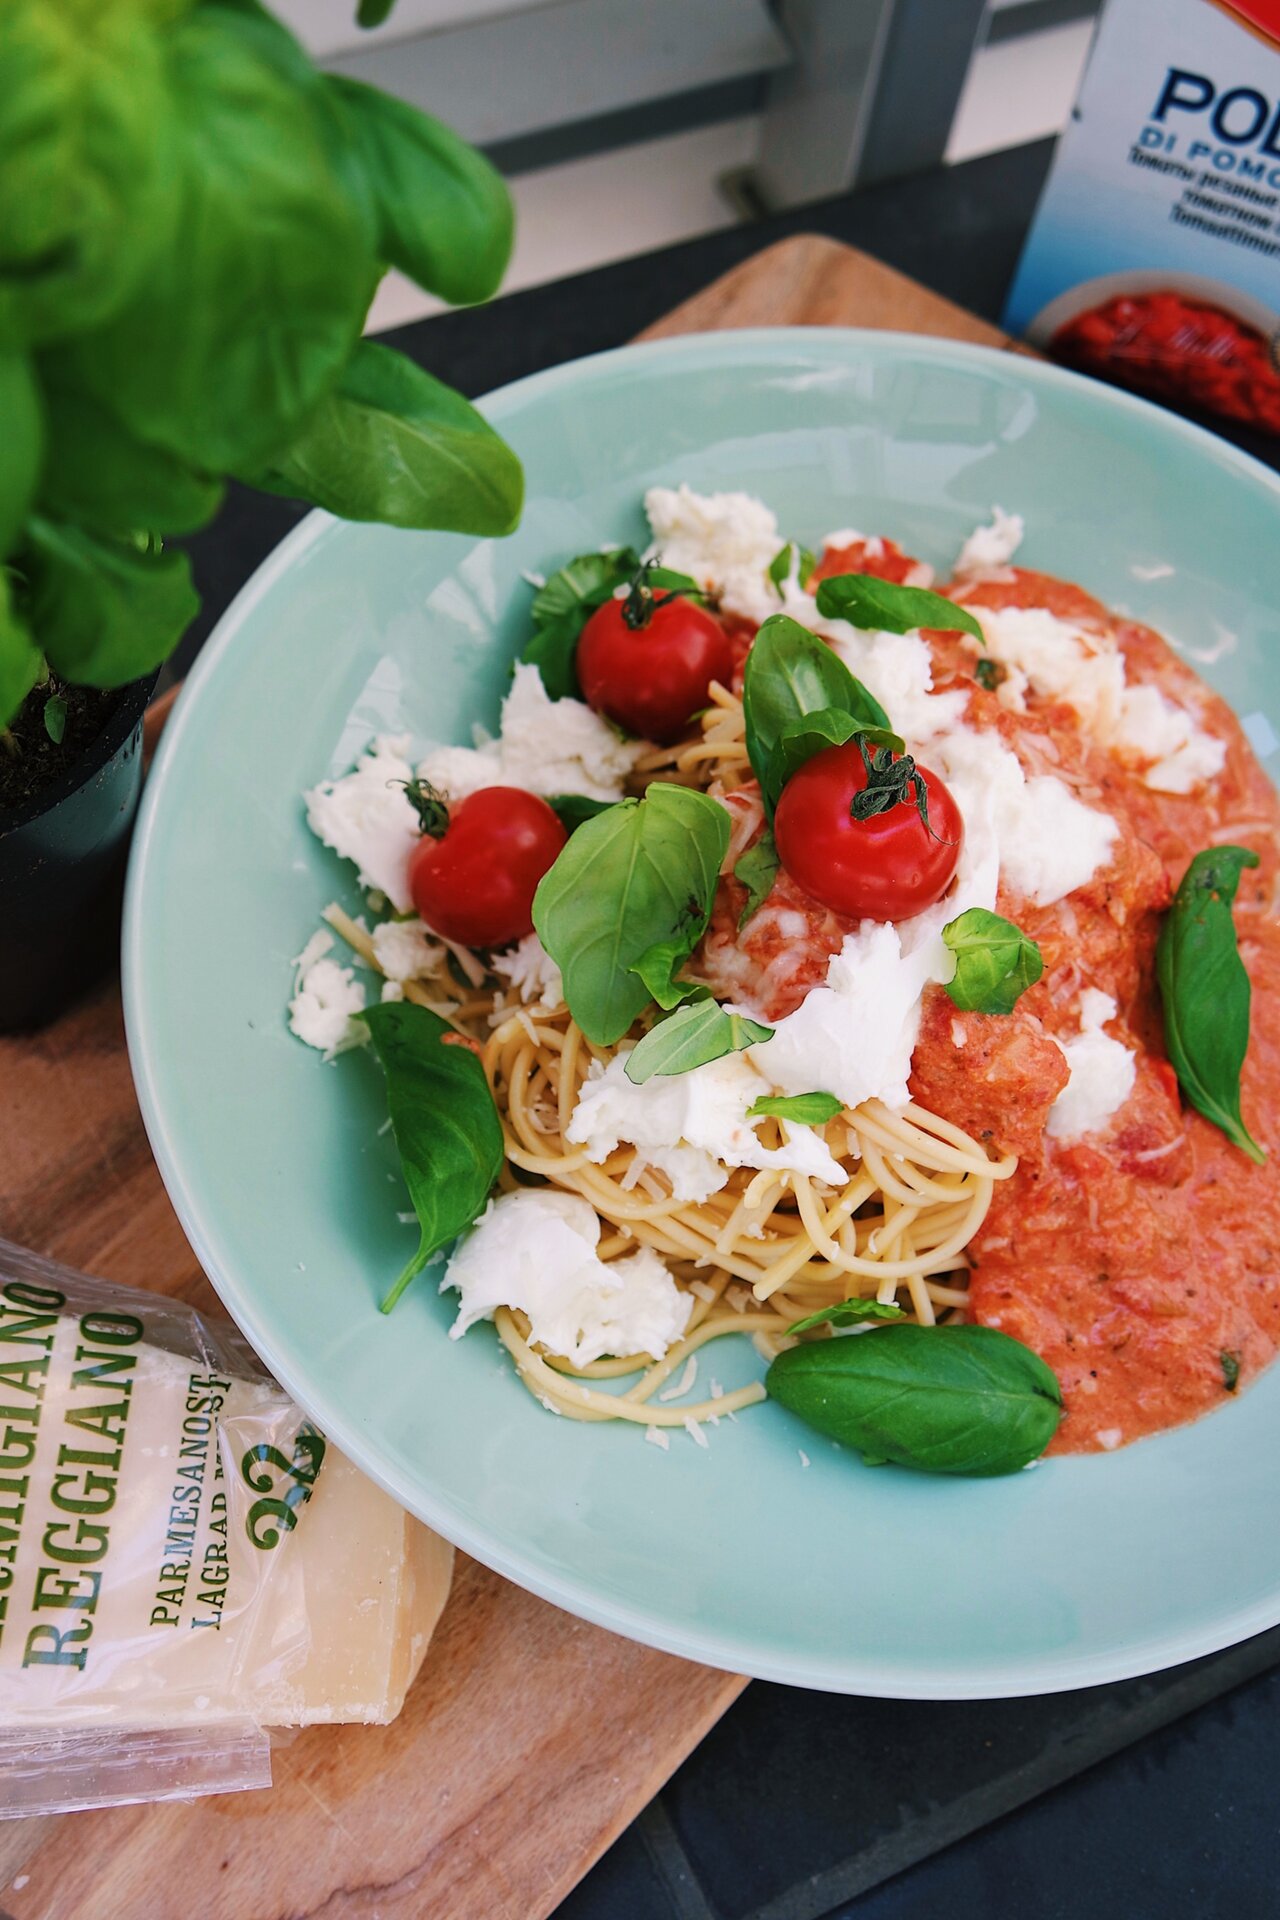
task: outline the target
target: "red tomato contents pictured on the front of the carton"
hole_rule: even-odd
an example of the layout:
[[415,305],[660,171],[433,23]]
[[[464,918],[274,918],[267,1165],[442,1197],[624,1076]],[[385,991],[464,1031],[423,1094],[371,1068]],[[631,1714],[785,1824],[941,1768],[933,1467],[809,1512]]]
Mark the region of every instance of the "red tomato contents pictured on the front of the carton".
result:
[[1280,434],[1280,371],[1270,342],[1211,301],[1121,294],[1059,326],[1052,351],[1105,380]]

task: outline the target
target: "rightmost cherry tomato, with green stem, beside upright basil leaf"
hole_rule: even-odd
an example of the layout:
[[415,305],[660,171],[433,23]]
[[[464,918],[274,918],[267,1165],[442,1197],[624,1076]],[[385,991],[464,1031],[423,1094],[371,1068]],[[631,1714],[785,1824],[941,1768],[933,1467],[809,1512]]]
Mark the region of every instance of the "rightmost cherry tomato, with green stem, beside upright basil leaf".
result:
[[791,877],[823,906],[850,920],[910,920],[946,893],[963,820],[938,776],[910,755],[850,739],[791,776],[773,835]]

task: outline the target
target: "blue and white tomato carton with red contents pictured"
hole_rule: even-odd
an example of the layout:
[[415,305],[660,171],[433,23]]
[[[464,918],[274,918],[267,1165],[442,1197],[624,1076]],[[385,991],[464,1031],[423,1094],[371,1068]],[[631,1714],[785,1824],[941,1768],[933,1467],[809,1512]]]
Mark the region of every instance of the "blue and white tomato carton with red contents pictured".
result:
[[1107,0],[1004,324],[1280,434],[1280,0]]

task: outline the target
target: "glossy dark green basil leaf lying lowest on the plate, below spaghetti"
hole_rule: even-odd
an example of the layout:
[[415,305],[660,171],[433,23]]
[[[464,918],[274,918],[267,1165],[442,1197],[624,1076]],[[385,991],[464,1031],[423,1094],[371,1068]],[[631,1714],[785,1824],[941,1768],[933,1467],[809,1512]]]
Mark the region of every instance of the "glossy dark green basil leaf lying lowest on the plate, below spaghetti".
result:
[[885,1327],[779,1354],[766,1388],[867,1465],[921,1473],[1015,1473],[1061,1419],[1044,1361],[994,1327]]

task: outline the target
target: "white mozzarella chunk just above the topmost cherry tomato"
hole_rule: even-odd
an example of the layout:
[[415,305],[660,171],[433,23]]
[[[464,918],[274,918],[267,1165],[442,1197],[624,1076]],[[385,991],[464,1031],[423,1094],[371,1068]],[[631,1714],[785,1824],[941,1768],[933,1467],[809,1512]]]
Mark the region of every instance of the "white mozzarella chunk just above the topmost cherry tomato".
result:
[[652,551],[664,566],[689,574],[727,612],[768,620],[779,612],[768,578],[783,545],[777,516],[750,493],[695,493],[689,486],[651,486],[645,513]]

